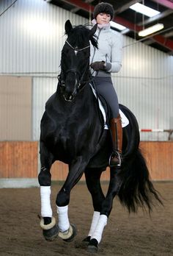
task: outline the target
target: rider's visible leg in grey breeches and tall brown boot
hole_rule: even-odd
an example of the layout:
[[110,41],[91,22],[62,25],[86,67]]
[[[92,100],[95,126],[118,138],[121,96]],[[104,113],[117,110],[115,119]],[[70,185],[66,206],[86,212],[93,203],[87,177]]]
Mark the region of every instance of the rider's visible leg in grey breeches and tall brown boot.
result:
[[111,81],[111,77],[94,77],[97,92],[106,99],[111,108],[111,138],[113,153],[110,157],[109,165],[121,166],[122,163],[122,123],[119,115],[119,103],[117,93]]

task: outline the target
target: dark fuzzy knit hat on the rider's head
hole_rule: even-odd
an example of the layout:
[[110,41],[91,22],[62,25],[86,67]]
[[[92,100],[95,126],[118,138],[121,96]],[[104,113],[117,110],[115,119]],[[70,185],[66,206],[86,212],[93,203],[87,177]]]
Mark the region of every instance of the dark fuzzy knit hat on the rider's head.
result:
[[99,13],[106,13],[111,15],[111,20],[114,18],[114,8],[111,4],[103,3],[97,4],[95,6],[93,17],[96,18]]

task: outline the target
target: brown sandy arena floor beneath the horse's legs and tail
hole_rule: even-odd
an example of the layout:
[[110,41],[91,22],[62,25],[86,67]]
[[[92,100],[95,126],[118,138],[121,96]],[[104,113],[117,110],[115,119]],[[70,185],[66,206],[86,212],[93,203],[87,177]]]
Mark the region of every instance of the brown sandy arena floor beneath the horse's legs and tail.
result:
[[[56,216],[56,193],[52,185],[52,207]],[[106,191],[107,185],[103,185]],[[156,207],[150,216],[139,210],[128,214],[118,199],[103,233],[97,255],[173,255],[173,182],[155,182],[163,197],[164,207]],[[92,202],[84,184],[73,188],[70,199],[70,222],[78,235],[71,243],[60,238],[45,241],[40,230],[40,189],[0,189],[0,255],[89,255],[82,239],[87,236],[92,218]]]

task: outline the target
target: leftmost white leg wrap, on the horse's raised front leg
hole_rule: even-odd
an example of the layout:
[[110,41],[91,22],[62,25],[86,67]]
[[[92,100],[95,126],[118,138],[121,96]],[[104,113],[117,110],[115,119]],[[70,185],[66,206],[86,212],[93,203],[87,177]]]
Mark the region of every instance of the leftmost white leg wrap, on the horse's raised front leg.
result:
[[50,186],[40,186],[40,196],[41,196],[41,216],[42,217],[52,217],[51,187]]

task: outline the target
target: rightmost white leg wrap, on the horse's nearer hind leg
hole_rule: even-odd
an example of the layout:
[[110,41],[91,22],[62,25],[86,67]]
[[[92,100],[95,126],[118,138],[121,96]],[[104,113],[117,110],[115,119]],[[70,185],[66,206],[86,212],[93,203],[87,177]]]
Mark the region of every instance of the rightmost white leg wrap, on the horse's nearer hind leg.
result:
[[107,224],[108,217],[104,214],[100,215],[100,218],[95,227],[95,231],[92,233],[91,239],[95,238],[98,243],[100,243],[102,238],[103,229]]

